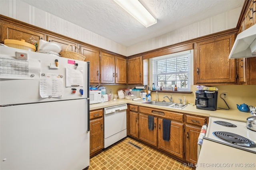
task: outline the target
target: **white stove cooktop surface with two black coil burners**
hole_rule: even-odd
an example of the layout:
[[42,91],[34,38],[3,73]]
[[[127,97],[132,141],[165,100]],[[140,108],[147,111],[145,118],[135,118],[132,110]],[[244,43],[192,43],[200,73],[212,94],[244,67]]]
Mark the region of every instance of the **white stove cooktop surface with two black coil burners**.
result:
[[209,117],[204,139],[256,154],[256,132],[246,128],[246,122]]

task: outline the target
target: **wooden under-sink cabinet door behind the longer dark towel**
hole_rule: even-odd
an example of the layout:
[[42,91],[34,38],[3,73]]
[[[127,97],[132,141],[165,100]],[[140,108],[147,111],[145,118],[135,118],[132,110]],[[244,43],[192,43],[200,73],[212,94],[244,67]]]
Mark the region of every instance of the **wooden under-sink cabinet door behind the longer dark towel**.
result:
[[183,124],[171,121],[170,139],[164,141],[162,120],[158,118],[158,148],[183,158]]

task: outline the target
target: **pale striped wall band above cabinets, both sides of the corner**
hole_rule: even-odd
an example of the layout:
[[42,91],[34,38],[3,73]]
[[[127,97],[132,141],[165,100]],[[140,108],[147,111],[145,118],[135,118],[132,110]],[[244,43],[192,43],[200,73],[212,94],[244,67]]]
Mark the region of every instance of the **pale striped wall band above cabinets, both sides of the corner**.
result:
[[0,14],[77,39],[121,55],[130,56],[189,39],[236,27],[242,7],[176,29],[130,47],[120,45],[94,32],[30,6],[20,0],[0,0]]

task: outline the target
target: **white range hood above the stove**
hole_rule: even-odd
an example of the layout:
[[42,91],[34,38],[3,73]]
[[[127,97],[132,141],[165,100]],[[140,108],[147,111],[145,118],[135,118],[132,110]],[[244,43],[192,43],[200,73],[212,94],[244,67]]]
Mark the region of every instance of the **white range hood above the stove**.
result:
[[229,59],[256,57],[256,24],[236,37]]

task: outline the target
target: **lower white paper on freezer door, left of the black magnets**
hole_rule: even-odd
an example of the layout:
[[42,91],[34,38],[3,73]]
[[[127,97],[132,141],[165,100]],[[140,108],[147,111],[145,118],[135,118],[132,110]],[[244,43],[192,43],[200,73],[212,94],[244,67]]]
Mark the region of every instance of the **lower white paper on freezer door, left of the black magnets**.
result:
[[39,88],[42,98],[61,97],[63,95],[63,75],[41,73]]

